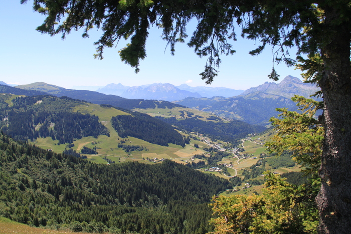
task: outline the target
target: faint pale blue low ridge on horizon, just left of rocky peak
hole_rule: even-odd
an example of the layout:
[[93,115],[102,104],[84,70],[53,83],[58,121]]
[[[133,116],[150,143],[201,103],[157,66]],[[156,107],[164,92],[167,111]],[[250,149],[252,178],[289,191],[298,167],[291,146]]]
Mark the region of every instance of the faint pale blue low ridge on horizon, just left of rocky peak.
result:
[[202,97],[207,97],[207,98],[211,98],[215,96],[229,98],[229,97],[240,95],[242,92],[244,92],[244,90],[229,89],[225,87],[207,87],[207,86],[191,87],[187,84],[182,84],[177,87],[182,90],[199,93]]

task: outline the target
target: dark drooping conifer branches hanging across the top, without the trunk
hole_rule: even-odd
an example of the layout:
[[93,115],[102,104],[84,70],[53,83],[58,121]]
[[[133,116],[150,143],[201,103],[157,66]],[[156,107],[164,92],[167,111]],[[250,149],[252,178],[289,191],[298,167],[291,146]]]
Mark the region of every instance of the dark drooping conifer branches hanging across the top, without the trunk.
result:
[[[284,61],[289,66],[295,60],[290,58],[288,48],[298,46],[298,53],[315,54],[320,41],[315,39],[321,36],[320,30],[315,28],[321,22],[322,12],[310,1],[50,0],[34,1],[33,8],[47,15],[43,25],[37,28],[42,33],[62,34],[64,39],[72,30],[83,29],[82,37],[86,38],[92,28],[101,30],[103,35],[95,43],[97,53],[94,56],[98,59],[103,58],[104,48],[115,46],[120,39],[130,39],[119,54],[136,72],[139,60],[146,56],[150,26],[162,29],[163,39],[174,54],[175,44],[185,42],[189,36],[187,24],[195,18],[198,25],[188,46],[198,56],[208,58],[201,73],[207,83],[217,75],[220,55],[235,53],[231,42],[237,40],[238,33],[260,41],[250,54],[258,55],[267,45],[272,45],[275,61]],[[237,28],[242,31],[237,32]],[[270,76],[278,79],[274,68]]]

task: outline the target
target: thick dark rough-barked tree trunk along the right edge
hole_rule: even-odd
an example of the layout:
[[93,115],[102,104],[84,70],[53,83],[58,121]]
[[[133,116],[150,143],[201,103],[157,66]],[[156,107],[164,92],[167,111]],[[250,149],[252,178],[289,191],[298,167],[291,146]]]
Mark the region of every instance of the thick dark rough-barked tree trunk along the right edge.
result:
[[335,24],[341,11],[335,6],[325,10],[328,38],[321,51],[325,138],[316,197],[320,233],[351,232],[351,29],[349,22]]

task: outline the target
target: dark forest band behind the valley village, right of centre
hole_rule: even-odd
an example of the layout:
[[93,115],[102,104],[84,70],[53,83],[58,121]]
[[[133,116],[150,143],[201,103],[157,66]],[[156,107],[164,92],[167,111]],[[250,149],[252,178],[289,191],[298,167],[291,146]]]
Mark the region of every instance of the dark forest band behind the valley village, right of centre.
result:
[[[156,117],[166,123],[174,126],[178,126],[181,129],[198,132],[201,134],[207,134],[213,139],[220,139],[224,141],[233,141],[234,139],[243,138],[248,133],[259,133],[264,131],[266,128],[259,125],[251,125],[239,120],[233,120],[227,123],[224,122],[212,122],[203,121],[198,118],[186,118],[183,120],[177,120],[174,117],[164,118]],[[218,120],[217,118],[210,118]]]

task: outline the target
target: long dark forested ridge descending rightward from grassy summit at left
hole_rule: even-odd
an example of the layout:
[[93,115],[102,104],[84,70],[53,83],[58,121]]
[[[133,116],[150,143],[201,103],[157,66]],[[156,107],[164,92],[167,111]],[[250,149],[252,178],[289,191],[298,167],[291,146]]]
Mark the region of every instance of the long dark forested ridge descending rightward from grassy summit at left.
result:
[[89,90],[73,90],[65,89],[56,85],[46,84],[44,82],[36,82],[29,85],[17,86],[22,89],[36,90],[52,94],[58,97],[67,96],[74,99],[84,100],[95,104],[109,104],[114,107],[123,109],[133,108],[172,108],[174,106],[181,106],[167,101],[143,100],[143,99],[126,99],[116,95],[106,95]]

